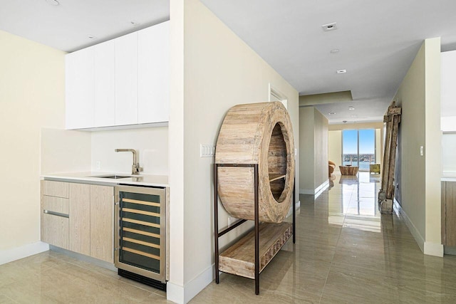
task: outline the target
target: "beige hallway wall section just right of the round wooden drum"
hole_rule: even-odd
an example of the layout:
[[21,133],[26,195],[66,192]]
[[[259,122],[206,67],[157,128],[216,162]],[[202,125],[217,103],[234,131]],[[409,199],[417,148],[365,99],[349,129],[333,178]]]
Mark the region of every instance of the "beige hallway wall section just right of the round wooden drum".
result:
[[313,194],[328,180],[328,120],[314,107],[299,108],[299,192]]

